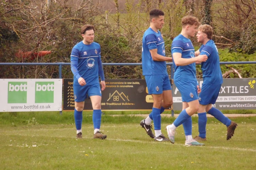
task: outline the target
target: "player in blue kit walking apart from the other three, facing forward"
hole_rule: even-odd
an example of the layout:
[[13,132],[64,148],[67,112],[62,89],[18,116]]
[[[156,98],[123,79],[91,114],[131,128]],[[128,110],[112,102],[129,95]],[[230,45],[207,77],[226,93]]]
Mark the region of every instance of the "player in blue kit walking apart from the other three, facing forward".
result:
[[[71,51],[71,71],[74,74],[75,124],[77,138],[82,138],[82,120],[84,100],[89,97],[93,107],[94,137],[106,139],[107,135],[100,132],[101,124],[101,90],[106,88],[103,66],[101,63],[100,45],[94,40],[95,28],[92,25],[81,27],[83,40]],[[101,79],[99,85],[99,76]]]

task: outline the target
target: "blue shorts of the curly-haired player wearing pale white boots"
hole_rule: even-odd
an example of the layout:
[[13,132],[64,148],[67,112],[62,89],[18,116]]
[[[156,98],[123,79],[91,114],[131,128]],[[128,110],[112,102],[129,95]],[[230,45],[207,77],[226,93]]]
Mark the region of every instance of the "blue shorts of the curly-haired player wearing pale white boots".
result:
[[182,102],[191,102],[198,99],[197,80],[178,80],[174,84],[181,94]]

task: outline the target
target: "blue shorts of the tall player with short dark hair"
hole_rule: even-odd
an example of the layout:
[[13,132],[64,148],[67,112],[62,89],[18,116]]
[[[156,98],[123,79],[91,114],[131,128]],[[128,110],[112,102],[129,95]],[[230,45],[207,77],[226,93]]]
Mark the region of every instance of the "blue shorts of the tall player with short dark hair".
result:
[[165,90],[172,90],[169,75],[145,75],[149,95],[162,94]]

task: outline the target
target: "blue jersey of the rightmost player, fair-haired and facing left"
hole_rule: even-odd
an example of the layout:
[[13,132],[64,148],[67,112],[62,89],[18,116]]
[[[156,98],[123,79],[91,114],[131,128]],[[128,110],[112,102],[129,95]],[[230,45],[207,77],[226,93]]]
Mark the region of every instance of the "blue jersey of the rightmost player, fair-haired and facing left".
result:
[[199,51],[201,55],[205,54],[208,56],[207,61],[201,63],[204,84],[222,84],[223,78],[220,68],[220,57],[214,41],[209,40],[205,45],[200,47]]

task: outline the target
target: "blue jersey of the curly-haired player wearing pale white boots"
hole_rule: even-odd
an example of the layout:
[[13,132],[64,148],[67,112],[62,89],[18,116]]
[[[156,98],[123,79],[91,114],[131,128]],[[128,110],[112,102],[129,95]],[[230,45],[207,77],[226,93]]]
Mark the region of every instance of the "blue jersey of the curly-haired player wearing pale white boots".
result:
[[[173,39],[172,42],[172,54],[181,53],[181,58],[195,57],[195,49],[190,39],[179,34]],[[174,81],[178,80],[196,80],[196,68],[195,63],[186,66],[176,66],[174,63]]]

